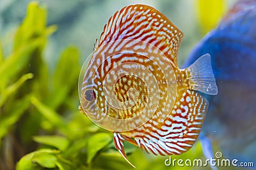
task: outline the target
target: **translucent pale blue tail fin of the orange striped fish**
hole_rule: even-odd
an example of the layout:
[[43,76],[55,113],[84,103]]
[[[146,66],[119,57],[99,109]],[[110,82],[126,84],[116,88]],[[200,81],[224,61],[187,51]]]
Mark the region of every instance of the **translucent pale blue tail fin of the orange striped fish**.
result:
[[188,71],[187,75],[189,75],[189,89],[210,95],[218,94],[218,87],[212,73],[211,56],[209,53],[197,59],[185,70]]

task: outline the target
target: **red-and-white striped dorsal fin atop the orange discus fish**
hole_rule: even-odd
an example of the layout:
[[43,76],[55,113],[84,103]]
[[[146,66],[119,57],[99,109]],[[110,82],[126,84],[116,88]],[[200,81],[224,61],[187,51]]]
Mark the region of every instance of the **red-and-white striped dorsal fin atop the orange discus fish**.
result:
[[177,64],[182,32],[162,13],[151,6],[125,6],[109,18],[95,48],[120,39],[137,39],[151,43]]

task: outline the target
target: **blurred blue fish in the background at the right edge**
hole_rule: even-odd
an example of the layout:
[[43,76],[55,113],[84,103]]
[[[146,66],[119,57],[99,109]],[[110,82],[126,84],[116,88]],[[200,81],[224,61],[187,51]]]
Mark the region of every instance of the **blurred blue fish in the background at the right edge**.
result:
[[237,1],[220,25],[195,46],[184,64],[184,67],[189,66],[198,59],[198,55],[205,52],[211,54],[212,69],[219,93],[218,96],[205,95],[211,106],[202,132],[211,141],[218,143],[225,158],[237,159],[239,162],[253,162],[254,168],[256,167],[255,30],[256,1]]

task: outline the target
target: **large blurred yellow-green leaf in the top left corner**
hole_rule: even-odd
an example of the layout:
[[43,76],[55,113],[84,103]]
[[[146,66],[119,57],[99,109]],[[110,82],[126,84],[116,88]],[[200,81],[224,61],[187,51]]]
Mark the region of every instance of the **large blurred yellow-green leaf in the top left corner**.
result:
[[44,49],[47,36],[55,29],[54,26],[46,27],[45,8],[41,8],[36,2],[29,3],[26,18],[15,34],[13,53],[2,64],[0,63],[1,81],[28,66],[33,52],[38,55],[38,52]]

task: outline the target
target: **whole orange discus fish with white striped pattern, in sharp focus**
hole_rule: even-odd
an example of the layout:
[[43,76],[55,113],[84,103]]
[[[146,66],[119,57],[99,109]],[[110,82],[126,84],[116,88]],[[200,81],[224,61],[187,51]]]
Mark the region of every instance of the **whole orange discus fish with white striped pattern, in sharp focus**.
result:
[[83,66],[79,108],[113,132],[125,160],[124,141],[154,155],[177,155],[198,138],[209,103],[197,91],[216,95],[218,87],[208,53],[179,69],[182,37],[151,6],[125,6],[109,18]]

